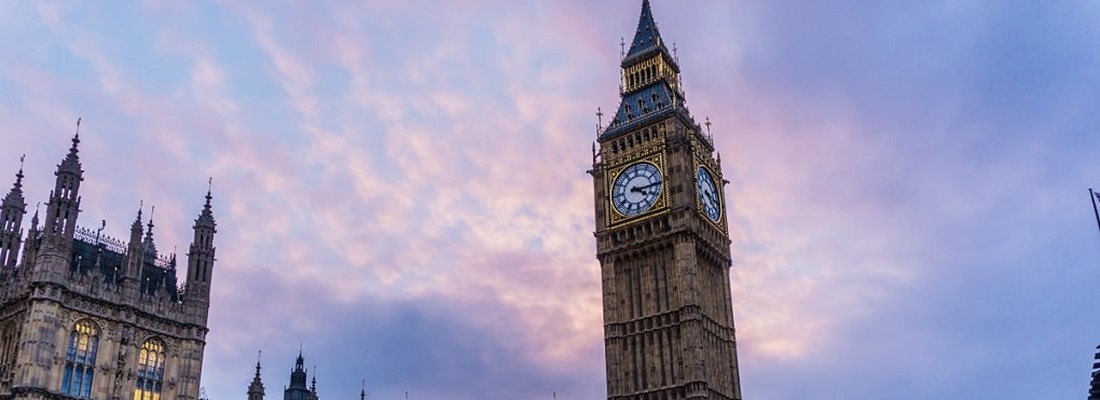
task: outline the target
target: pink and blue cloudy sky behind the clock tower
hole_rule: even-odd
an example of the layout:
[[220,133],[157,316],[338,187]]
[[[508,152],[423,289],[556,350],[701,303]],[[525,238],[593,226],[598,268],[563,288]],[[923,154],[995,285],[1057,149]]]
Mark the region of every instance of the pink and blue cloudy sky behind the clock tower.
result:
[[[746,399],[1087,397],[1100,2],[652,7],[730,181]],[[45,201],[81,118],[79,224],[155,205],[183,257],[212,177],[213,400],[299,348],[326,400],[605,398],[584,171],[639,10],[0,2],[0,186],[25,154]]]

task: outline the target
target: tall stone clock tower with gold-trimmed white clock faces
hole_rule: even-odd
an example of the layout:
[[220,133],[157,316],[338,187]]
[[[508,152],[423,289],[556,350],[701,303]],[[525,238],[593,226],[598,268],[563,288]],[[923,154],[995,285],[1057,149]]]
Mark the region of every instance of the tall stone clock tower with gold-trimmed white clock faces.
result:
[[607,398],[740,399],[722,159],[648,0],[620,67],[591,170]]

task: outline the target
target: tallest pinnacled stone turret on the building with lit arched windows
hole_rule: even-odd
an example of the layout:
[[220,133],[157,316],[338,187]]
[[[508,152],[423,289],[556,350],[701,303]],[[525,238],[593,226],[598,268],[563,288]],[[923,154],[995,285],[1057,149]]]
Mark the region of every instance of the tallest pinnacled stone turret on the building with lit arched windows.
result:
[[54,173],[57,179],[54,182],[54,190],[50,193],[46,224],[43,230],[46,236],[64,238],[57,244],[65,249],[72,246],[73,234],[76,232],[76,219],[80,213],[80,181],[84,180],[84,169],[77,155],[77,146],[80,144],[80,120],[77,120],[76,126],[73,147],[69,147],[68,155],[57,165],[57,171]]

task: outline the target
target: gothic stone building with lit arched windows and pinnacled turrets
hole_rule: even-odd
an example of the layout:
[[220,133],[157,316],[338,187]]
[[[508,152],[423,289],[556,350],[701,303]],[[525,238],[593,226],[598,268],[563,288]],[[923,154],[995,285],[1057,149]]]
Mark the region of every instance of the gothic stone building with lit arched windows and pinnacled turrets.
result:
[[0,205],[0,400],[197,399],[215,263],[210,192],[178,286],[152,215],[145,223],[138,211],[129,242],[77,225],[79,143],[78,132],[45,219],[35,210],[25,236],[22,167]]

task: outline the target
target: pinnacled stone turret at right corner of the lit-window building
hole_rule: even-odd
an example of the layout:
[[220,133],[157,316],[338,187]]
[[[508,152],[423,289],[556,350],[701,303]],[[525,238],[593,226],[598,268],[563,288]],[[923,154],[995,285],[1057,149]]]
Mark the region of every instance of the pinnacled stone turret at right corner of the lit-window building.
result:
[[[210,189],[207,189],[206,204],[195,220],[195,237],[191,248],[187,252],[187,300],[205,325],[207,311],[210,308],[210,277],[213,273],[215,246],[213,235],[218,233],[218,224],[210,209]],[[300,358],[300,355],[299,355]],[[302,382],[305,385],[305,382]]]

